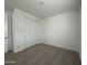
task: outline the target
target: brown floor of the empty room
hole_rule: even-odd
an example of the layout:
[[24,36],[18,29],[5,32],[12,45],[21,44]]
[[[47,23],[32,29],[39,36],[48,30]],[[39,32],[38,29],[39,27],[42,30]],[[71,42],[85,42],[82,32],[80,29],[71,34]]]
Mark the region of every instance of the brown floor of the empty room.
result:
[[6,53],[6,65],[81,65],[78,53],[47,44],[36,44],[19,53]]

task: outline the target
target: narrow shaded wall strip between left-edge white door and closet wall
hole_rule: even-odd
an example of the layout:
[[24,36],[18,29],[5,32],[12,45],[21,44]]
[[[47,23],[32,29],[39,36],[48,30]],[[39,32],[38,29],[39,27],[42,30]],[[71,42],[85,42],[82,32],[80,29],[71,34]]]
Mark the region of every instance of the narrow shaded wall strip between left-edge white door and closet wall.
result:
[[12,50],[12,19],[11,19],[11,11],[10,10],[4,10],[4,14],[8,14],[8,51]]

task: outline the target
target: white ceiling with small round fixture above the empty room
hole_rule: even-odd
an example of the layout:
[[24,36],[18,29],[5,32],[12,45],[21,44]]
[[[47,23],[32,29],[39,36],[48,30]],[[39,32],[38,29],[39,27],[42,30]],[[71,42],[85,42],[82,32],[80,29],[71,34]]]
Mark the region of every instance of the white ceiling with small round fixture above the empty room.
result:
[[80,0],[4,0],[4,8],[24,10],[41,19],[79,9]]

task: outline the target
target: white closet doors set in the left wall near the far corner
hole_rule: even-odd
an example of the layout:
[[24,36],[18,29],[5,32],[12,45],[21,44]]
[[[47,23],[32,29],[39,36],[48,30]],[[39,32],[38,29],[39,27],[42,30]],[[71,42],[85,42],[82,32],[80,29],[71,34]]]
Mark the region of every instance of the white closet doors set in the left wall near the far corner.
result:
[[36,43],[35,41],[35,23],[30,18],[24,18],[24,42],[25,47],[32,46]]

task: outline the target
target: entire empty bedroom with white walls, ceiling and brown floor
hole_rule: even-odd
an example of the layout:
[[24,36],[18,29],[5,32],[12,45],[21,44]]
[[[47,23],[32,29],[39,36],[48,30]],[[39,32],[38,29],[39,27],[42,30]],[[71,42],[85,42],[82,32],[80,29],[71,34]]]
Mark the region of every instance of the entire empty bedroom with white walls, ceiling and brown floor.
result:
[[81,0],[4,0],[4,65],[81,65]]

